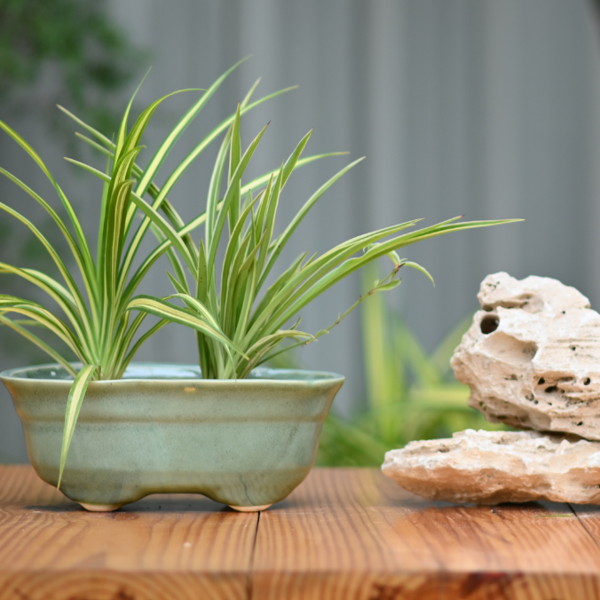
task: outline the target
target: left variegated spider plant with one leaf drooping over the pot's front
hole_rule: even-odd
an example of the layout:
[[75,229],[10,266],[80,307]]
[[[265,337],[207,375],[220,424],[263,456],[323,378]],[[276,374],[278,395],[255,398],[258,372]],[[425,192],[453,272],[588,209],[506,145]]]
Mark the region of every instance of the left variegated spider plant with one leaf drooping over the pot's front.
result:
[[[74,378],[67,399],[59,485],[67,460],[68,448],[75,430],[77,415],[89,383],[93,380],[122,377],[141,344],[168,322],[167,319],[161,318],[153,327],[147,328],[142,334],[140,327],[146,318],[146,312],[138,312],[135,318],[131,317],[131,307],[135,306],[135,304],[131,304],[131,298],[135,295],[136,289],[145,277],[146,272],[164,253],[167,253],[174,264],[177,264],[178,260],[171,249],[171,239],[166,239],[143,260],[138,260],[139,266],[133,268],[134,260],[138,257],[140,244],[145,237],[148,226],[151,225],[151,221],[147,217],[141,222],[136,219],[137,207],[142,206],[146,209],[150,206],[142,200],[145,196],[149,196],[152,200],[151,209],[153,211],[162,209],[170,224],[172,224],[173,231],[176,233],[175,237],[171,236],[171,238],[178,241],[178,244],[182,244],[179,249],[186,253],[186,257],[190,258],[191,264],[198,264],[199,254],[193,247],[193,241],[189,233],[195,227],[201,225],[207,216],[201,214],[192,223],[184,226],[177,211],[171,206],[167,194],[170,193],[178,178],[181,177],[193,160],[201,154],[204,148],[209,146],[210,142],[216,139],[222,131],[230,128],[233,122],[239,122],[241,113],[245,113],[265,100],[287,91],[277,91],[250,103],[258,82],[255,83],[241,103],[238,113],[231,114],[217,125],[208,136],[201,139],[186,159],[173,170],[162,189],[159,188],[153,180],[161,168],[162,162],[170,154],[179,136],[193,122],[193,119],[201,112],[201,109],[223,83],[225,77],[235,67],[237,65],[234,65],[219,77],[208,90],[203,91],[200,99],[193,103],[193,106],[162,141],[162,144],[156,149],[144,169],[136,162],[143,147],[140,145],[142,134],[156,108],[165,99],[180,91],[172,92],[154,101],[139,114],[137,120],[129,129],[128,122],[135,98],[134,94],[122,115],[122,121],[114,140],[105,137],[99,131],[80,121],[74,114],[61,108],[83,130],[91,134],[92,138],[81,133],[76,135],[91,146],[100,149],[107,156],[107,168],[104,171],[95,170],[90,165],[82,162],[71,161],[86,170],[99,173],[104,181],[102,197],[99,201],[99,237],[95,258],[92,256],[91,244],[83,233],[73,206],[67,200],[67,195],[53,178],[41,157],[15,130],[12,130],[6,123],[0,122],[0,129],[4,130],[29,155],[43,171],[46,178],[50,180],[67,215],[66,219],[60,217],[59,213],[51,208],[51,205],[43,200],[38,193],[12,173],[0,168],[0,173],[28,193],[50,215],[65,237],[72,255],[61,257],[33,222],[21,215],[16,209],[0,202],[0,209],[18,219],[42,243],[53,263],[56,264],[62,280],[60,281],[35,269],[0,262],[0,272],[11,273],[28,280],[37,288],[40,288],[52,301],[50,303],[51,310],[44,304],[1,294],[0,324],[14,329],[30,342],[35,343]],[[296,162],[295,167],[316,160],[316,158],[319,157],[308,157],[304,159],[304,162]],[[257,186],[263,185],[265,178],[269,177],[271,177],[271,173],[250,182],[244,188],[244,192],[249,192]],[[74,272],[67,267],[69,261],[73,259],[79,278],[83,280],[83,288],[77,284]],[[56,306],[54,304],[58,305],[62,316],[59,317],[55,314],[53,309]],[[16,314],[17,317],[10,317],[11,314]],[[42,337],[37,336],[32,330],[33,326],[44,328],[57,336],[59,341],[66,345],[67,351],[74,354],[81,364],[70,363],[65,351],[55,349],[49,343],[46,343]],[[225,353],[237,348],[229,337],[225,336],[217,323],[208,319],[197,319],[194,321],[194,326],[202,332],[207,340],[210,340],[216,346],[222,345],[225,348]]]

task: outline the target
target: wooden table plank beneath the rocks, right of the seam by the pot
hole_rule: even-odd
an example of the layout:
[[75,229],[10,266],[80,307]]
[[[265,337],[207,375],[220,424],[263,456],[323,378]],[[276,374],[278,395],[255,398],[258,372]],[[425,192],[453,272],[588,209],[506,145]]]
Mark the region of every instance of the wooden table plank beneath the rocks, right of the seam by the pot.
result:
[[424,501],[378,470],[313,470],[261,514],[253,598],[600,597],[600,549],[565,504]]

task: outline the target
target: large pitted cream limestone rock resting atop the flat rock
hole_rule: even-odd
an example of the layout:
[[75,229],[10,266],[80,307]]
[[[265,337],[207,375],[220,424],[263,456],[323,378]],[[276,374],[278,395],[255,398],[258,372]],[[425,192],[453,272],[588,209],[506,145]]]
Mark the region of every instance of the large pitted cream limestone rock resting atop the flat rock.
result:
[[600,440],[600,315],[545,277],[488,275],[454,375],[489,421]]

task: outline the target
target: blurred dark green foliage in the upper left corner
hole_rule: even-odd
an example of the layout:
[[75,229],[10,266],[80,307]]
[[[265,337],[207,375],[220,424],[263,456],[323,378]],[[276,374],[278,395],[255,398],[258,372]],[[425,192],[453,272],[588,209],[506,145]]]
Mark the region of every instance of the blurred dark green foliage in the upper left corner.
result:
[[44,89],[48,103],[61,101],[96,129],[111,133],[119,114],[110,94],[130,82],[144,56],[107,16],[105,0],[0,0],[4,105],[52,65],[51,83]]

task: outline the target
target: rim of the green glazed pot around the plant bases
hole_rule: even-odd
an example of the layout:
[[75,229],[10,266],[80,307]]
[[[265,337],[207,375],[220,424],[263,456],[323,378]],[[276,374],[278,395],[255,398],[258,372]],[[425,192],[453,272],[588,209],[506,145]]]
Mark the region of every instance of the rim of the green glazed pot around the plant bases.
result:
[[[75,368],[83,367],[83,363],[81,362],[71,362],[69,363]],[[198,365],[184,365],[178,363],[167,363],[167,362],[132,362],[130,363],[130,367],[133,367],[135,370],[143,369],[143,368],[154,368],[156,369],[171,369],[173,372],[177,370],[186,370],[188,373],[190,371],[197,372],[198,375],[201,375],[201,370]],[[128,370],[130,367],[127,367]],[[15,367],[11,369],[6,369],[0,372],[0,379],[6,382],[30,382],[30,383],[46,383],[51,385],[68,385],[69,387],[73,383],[73,377],[29,377],[27,375],[28,371],[38,370],[38,369],[51,369],[56,371],[62,370],[64,372],[64,367],[61,367],[59,363],[43,363],[41,365],[30,365],[28,367]],[[93,381],[90,383],[91,386],[109,386],[114,383],[120,384],[130,384],[130,383],[140,383],[140,382],[162,382],[162,383],[189,383],[193,385],[210,385],[212,387],[226,387],[226,386],[239,386],[244,385],[246,387],[251,385],[265,385],[265,384],[277,384],[277,385],[297,385],[298,383],[304,384],[315,384],[315,383],[343,383],[345,381],[345,377],[343,375],[339,375],[337,373],[333,373],[330,371],[313,371],[311,369],[284,369],[284,368],[271,368],[271,367],[257,367],[251,371],[251,375],[246,379],[202,379],[201,376],[193,377],[193,376],[183,376],[183,377],[169,377],[169,376],[127,376],[127,371],[125,371],[125,376],[121,379],[103,379],[99,381]],[[269,376],[269,375],[279,375],[279,376]],[[288,375],[287,377],[285,375]],[[296,375],[296,376],[294,376]],[[302,375],[302,376],[298,376]]]

